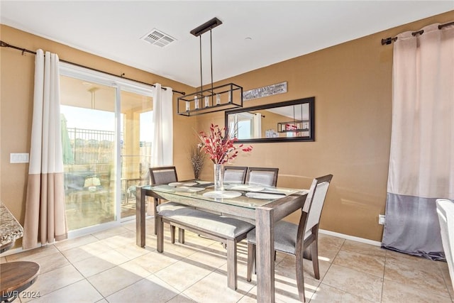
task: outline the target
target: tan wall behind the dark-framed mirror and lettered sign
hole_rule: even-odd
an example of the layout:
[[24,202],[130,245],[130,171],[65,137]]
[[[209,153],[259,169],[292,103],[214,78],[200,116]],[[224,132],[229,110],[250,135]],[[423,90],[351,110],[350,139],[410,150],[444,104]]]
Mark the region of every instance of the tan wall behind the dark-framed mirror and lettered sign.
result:
[[[253,152],[234,164],[279,167],[277,184],[285,187],[308,188],[312,178],[333,174],[321,228],[381,241],[378,215],[384,214],[387,194],[392,45],[380,42],[453,20],[450,11],[226,79],[244,90],[287,81],[286,94],[245,101],[248,107],[316,98],[315,142],[255,143]],[[200,129],[211,121],[223,123],[223,114],[201,117]],[[297,214],[289,219],[296,221]]]

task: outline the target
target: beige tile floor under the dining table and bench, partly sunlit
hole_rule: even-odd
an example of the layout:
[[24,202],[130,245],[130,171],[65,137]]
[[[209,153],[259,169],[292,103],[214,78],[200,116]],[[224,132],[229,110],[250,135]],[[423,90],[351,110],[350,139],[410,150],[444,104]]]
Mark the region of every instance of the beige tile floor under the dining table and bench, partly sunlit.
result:
[[[1,263],[33,260],[38,280],[20,302],[256,302],[256,280],[245,280],[246,252],[239,245],[238,290],[228,289],[226,250],[187,232],[184,245],[166,238],[155,250],[153,219],[147,246],[135,246],[135,224],[1,257]],[[167,232],[166,235],[169,233]],[[304,264],[306,302],[454,302],[446,263],[321,234],[321,280]],[[277,254],[276,302],[299,302],[294,258]],[[19,299],[16,300],[19,302]]]

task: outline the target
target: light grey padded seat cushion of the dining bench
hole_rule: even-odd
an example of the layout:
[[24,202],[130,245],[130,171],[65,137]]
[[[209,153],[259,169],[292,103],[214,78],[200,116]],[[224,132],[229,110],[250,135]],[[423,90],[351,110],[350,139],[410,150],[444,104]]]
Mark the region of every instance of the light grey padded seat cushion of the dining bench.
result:
[[[165,206],[165,204],[162,204],[162,206]],[[169,205],[165,208],[160,207],[158,213],[175,223],[188,227],[194,226],[194,228],[216,233],[225,238],[237,238],[255,227],[253,224],[245,221],[233,219],[228,216],[211,214],[207,211],[193,209],[188,206],[182,206],[181,204]]]

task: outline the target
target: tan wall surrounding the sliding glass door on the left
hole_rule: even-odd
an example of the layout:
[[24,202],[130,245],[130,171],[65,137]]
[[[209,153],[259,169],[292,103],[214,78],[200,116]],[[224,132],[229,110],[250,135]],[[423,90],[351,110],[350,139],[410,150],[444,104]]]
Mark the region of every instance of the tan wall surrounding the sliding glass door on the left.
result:
[[[15,28],[1,25],[1,40],[28,50],[41,48],[57,53],[60,60],[67,60],[114,75],[125,73],[124,77],[146,83],[159,82],[180,92],[190,93],[194,89],[179,82],[150,74],[133,67],[121,65],[102,57],[84,53],[60,43],[40,38]],[[31,118],[33,114],[33,73],[35,56],[22,55],[20,50],[0,48],[0,200],[23,224],[25,215],[26,180],[28,164],[9,163],[10,153],[30,151]],[[179,94],[174,94],[174,106]],[[195,119],[174,116],[174,162],[181,178],[192,177],[192,170],[185,151],[196,140]],[[20,245],[21,241],[16,243]]]

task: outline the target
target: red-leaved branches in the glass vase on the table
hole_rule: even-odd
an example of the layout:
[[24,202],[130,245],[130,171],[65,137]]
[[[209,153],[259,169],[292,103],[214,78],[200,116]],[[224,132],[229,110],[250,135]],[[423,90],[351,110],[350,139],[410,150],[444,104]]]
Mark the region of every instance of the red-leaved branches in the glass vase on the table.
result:
[[211,161],[215,164],[230,163],[238,156],[238,152],[250,152],[253,150],[252,146],[243,148],[243,144],[238,146],[233,145],[238,138],[232,133],[226,133],[226,128],[219,128],[219,126],[211,123],[210,133],[206,134],[204,131],[199,133],[200,143],[199,148],[204,150],[209,155]]

